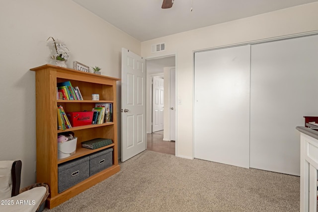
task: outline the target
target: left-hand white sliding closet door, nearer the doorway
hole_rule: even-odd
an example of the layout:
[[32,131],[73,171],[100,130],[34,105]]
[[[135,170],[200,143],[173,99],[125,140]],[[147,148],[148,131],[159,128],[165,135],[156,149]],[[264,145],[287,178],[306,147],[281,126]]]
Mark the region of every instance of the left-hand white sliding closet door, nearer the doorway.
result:
[[250,46],[194,55],[194,157],[249,167]]

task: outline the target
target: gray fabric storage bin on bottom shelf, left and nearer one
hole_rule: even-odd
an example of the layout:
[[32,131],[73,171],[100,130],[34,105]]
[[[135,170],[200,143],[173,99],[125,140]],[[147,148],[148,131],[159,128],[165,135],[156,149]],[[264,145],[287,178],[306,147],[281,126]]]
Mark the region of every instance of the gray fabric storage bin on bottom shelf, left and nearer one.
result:
[[89,177],[89,156],[58,166],[58,192],[61,193]]

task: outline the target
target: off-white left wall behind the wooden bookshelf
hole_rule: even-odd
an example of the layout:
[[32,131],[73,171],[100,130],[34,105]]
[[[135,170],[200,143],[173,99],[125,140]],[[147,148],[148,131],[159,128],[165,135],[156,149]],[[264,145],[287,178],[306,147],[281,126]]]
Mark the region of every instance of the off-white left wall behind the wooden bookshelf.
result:
[[0,31],[0,160],[22,160],[23,188],[35,182],[35,73],[29,69],[49,63],[46,40],[67,44],[69,68],[79,61],[118,78],[121,48],[140,55],[141,43],[72,0],[2,2]]

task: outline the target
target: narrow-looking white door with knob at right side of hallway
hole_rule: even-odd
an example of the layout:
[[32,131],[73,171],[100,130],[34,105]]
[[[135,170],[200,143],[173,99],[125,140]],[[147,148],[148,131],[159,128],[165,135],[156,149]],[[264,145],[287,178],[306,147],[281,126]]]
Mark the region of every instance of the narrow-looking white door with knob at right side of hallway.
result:
[[170,141],[175,141],[175,69],[170,69]]

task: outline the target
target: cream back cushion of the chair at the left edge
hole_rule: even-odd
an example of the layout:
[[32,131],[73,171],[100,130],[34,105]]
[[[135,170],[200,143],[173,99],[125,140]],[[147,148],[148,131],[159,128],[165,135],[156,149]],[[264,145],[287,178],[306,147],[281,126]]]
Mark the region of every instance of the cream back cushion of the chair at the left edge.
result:
[[0,200],[11,197],[12,194],[12,176],[11,169],[14,160],[0,161]]

